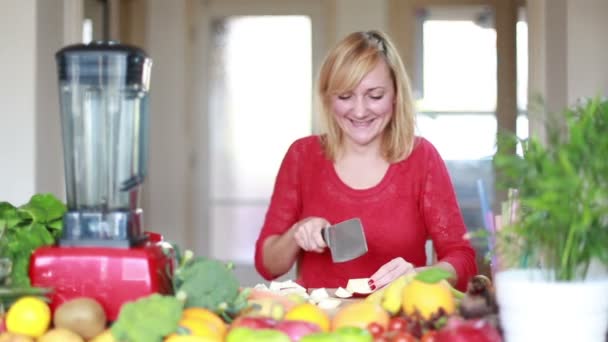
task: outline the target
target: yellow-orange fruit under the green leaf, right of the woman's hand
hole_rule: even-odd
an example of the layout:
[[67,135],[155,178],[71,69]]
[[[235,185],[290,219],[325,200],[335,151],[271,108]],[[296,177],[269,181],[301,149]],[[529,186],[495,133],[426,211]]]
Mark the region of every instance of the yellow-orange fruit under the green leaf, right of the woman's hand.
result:
[[441,281],[429,284],[414,279],[403,289],[402,298],[406,315],[418,311],[424,319],[430,319],[439,308],[443,308],[448,315],[456,309],[450,285]]

